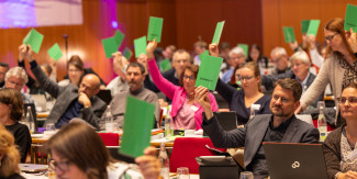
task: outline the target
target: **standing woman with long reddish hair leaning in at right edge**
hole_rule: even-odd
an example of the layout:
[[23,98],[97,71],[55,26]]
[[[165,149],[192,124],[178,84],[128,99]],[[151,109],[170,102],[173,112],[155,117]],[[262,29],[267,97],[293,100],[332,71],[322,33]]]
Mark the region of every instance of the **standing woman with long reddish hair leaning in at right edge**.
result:
[[[350,82],[357,81],[357,63],[354,53],[357,53],[356,34],[345,32],[344,20],[333,19],[328,21],[324,27],[325,40],[327,42],[326,57],[317,74],[317,77],[303,93],[301,98],[301,105],[297,110],[300,112],[305,110],[326,88],[328,83],[332,85],[334,97],[339,97],[342,89],[347,87]],[[335,98],[336,109],[336,124],[341,125],[338,116],[338,103]]]

